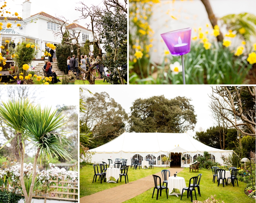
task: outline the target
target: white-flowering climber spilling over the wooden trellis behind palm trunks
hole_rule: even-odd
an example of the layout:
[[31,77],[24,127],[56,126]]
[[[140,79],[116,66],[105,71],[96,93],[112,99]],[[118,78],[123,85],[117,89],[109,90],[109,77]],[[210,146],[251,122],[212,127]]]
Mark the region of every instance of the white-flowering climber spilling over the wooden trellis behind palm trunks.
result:
[[[33,173],[33,164],[24,163],[24,180],[25,176],[29,177],[31,173]],[[12,167],[6,168],[6,169],[0,169],[0,187],[15,192],[16,194],[22,194],[22,188],[19,182],[19,176],[20,176],[20,164],[16,164]],[[56,188],[50,187],[50,185],[56,185],[56,186],[62,186],[62,183],[59,181],[67,181],[71,183],[64,183],[64,187],[70,187],[69,192],[75,192],[74,189],[71,189],[73,187],[78,187],[78,172],[77,171],[71,171],[66,170],[65,168],[59,168],[55,166],[54,164],[49,164],[48,170],[39,170],[37,167],[36,170],[36,177],[39,180],[38,181],[38,190],[49,192],[50,190],[55,190]],[[53,182],[54,180],[54,182]],[[57,180],[57,182],[55,182]],[[7,185],[9,184],[9,187]],[[67,191],[67,189],[57,188],[57,190],[64,190]],[[77,190],[77,189],[76,189]]]

